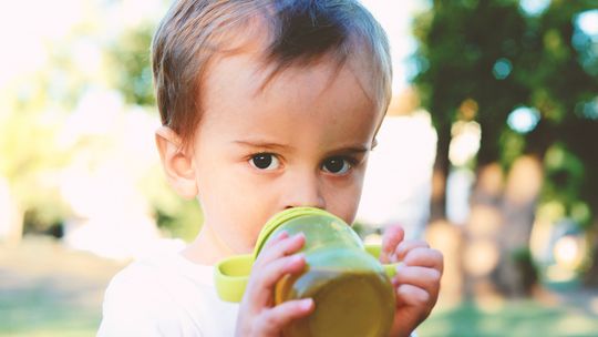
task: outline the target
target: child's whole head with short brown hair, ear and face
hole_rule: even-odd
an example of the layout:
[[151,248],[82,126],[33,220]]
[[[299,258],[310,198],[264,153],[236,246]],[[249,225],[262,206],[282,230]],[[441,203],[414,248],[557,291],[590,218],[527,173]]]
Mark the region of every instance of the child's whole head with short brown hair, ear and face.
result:
[[391,95],[386,38],[357,1],[177,1],[153,70],[168,180],[198,195],[212,244],[248,252],[292,206],[353,221]]

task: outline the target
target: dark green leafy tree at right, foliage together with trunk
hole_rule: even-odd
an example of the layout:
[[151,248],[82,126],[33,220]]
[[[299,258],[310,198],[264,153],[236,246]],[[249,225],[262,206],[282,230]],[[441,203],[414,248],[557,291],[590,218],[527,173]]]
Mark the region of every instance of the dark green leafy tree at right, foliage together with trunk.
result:
[[[571,165],[557,165],[557,168],[545,161],[550,149],[560,146],[582,163],[581,171],[596,167],[598,156],[590,153],[587,142],[596,134],[597,121],[579,113],[594,109],[587,104],[592,104],[598,92],[596,54],[594,61],[587,55],[584,59],[595,40],[584,39],[575,25],[576,16],[594,8],[592,1],[555,0],[544,13],[534,17],[527,16],[519,8],[519,1],[514,0],[434,1],[431,10],[415,21],[414,33],[421,43],[415,60],[421,71],[414,83],[423,105],[432,113],[439,134],[435,163],[439,178],[434,183],[440,186],[433,190],[442,193],[432,201],[432,217],[445,216],[444,191],[451,166],[448,149],[453,123],[475,120],[481,126],[482,140],[473,164],[478,173],[473,203],[474,206],[481,203],[494,207],[503,218],[501,233],[494,228],[491,234],[502,249],[495,285],[501,284],[504,275],[519,285],[525,283],[522,276],[525,268],[514,266],[517,261],[513,257],[523,258],[519,263],[526,259],[526,245],[539,197],[566,202],[569,215],[575,213],[570,212],[573,205],[580,203],[588,205],[588,210],[598,207],[596,194],[589,191],[590,186],[595,187],[594,177],[565,173],[567,177],[579,176],[585,183],[561,176],[560,184],[564,181],[568,187],[557,187],[558,176],[569,172],[566,167]],[[530,132],[507,127],[512,112],[518,106],[537,111],[539,121]],[[517,202],[508,191],[499,194],[484,191],[480,177],[496,165],[509,172],[505,187],[513,187],[508,182],[517,176],[515,168],[525,166],[516,163],[538,167],[528,171],[534,171],[536,177],[546,175],[543,190],[536,186],[542,196],[529,193],[525,202]],[[506,269],[519,272],[507,273]],[[506,293],[526,292],[520,287],[515,289],[517,287],[508,282],[503,284]]]

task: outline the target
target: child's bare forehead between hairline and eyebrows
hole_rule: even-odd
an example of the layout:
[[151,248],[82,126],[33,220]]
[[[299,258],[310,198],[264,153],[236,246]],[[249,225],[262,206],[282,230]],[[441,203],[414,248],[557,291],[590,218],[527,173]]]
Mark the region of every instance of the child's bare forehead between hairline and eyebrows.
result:
[[[309,67],[290,67],[266,86],[262,84],[271,68],[265,69],[262,64],[254,53],[238,53],[214,62],[204,81],[200,129],[264,132],[287,139],[300,136],[299,130],[309,130],[308,136],[320,141],[341,133],[362,140],[373,137],[382,113],[350,63],[339,68],[333,60],[323,58]],[[306,123],[328,125],[318,129]],[[323,126],[332,126],[327,129],[329,134],[323,133]]]

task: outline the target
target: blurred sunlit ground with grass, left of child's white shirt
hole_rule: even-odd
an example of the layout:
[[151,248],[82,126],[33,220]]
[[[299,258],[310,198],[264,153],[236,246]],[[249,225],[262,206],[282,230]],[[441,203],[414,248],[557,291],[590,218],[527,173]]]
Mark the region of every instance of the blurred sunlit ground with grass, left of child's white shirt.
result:
[[95,336],[122,266],[47,238],[0,245],[0,336]]

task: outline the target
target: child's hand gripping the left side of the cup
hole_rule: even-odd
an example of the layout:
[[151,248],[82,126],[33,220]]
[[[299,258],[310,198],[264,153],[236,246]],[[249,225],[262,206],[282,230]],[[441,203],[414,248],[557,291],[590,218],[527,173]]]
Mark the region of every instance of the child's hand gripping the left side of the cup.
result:
[[289,300],[274,305],[274,288],[285,274],[303,270],[306,259],[296,254],[305,243],[302,234],[288,236],[281,233],[264,246],[249,276],[237,320],[237,336],[280,336],[290,321],[309,315],[313,310],[311,298]]

